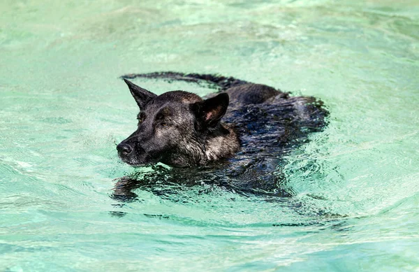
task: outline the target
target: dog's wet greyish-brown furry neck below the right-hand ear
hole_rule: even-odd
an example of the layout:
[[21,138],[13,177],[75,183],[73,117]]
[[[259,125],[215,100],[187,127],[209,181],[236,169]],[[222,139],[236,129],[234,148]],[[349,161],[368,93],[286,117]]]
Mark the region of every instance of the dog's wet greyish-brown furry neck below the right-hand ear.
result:
[[205,162],[232,157],[240,149],[240,141],[233,129],[219,126],[205,137]]

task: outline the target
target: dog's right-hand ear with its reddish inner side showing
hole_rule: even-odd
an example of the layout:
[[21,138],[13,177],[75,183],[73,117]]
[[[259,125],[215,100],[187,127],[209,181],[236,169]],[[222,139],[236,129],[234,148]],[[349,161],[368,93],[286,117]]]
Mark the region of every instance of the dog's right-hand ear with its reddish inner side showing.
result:
[[191,110],[204,127],[215,127],[226,114],[228,94],[225,92],[204,101],[191,104]]

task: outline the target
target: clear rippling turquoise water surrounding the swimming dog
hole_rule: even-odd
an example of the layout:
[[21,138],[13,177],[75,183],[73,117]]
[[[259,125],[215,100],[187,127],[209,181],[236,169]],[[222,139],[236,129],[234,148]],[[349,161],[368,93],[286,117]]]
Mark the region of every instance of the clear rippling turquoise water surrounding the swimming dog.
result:
[[[419,271],[419,5],[346,2],[1,1],[0,271]],[[295,196],[110,197],[135,171],[118,77],[170,70],[325,101]]]

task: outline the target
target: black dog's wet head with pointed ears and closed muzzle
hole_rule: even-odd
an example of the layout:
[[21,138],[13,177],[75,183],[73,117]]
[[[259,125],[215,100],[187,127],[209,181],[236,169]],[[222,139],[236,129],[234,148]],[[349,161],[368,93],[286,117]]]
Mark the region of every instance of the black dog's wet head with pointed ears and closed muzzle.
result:
[[119,157],[131,166],[202,164],[207,135],[226,113],[228,94],[206,100],[183,91],[158,96],[128,80],[125,83],[140,113],[137,130],[117,145]]

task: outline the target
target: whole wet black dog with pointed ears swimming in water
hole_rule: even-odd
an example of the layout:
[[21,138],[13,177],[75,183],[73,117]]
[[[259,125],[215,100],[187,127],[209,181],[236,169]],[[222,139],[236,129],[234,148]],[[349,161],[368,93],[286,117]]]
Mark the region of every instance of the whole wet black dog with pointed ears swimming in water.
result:
[[[147,73],[123,76],[140,107],[138,129],[117,145],[132,166],[162,162],[152,173],[117,182],[114,196],[135,198],[132,190],[156,182],[207,182],[252,192],[289,196],[281,157],[325,127],[327,110],[314,97],[289,96],[267,85],[223,76]],[[163,78],[211,83],[220,94],[203,100],[183,91],[157,96],[126,78]],[[221,118],[223,118],[221,120]]]

